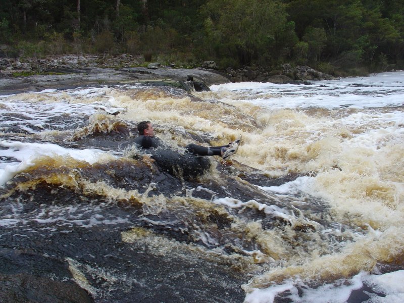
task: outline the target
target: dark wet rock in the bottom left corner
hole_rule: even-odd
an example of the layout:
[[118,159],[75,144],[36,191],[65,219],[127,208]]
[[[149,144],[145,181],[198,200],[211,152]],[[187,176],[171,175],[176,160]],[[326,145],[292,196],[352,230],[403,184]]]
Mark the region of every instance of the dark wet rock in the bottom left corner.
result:
[[4,303],[93,302],[87,291],[72,281],[66,262],[30,249],[0,249],[0,289]]

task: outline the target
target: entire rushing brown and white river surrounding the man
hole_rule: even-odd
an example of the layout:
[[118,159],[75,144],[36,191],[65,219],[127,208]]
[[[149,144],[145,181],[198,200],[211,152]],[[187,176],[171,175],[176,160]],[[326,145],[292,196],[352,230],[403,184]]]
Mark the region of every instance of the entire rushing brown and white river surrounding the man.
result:
[[[0,280],[95,302],[402,302],[403,80],[1,96]],[[242,144],[172,176],[133,148],[142,120],[179,153]]]

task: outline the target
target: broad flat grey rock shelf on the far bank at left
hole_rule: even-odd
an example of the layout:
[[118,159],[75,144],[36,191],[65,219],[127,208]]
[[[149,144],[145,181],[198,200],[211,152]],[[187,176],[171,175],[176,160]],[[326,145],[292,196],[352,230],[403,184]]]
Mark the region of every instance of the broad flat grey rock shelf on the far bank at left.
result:
[[9,60],[9,66],[1,70],[0,94],[139,82],[184,82],[188,75],[206,85],[230,81],[230,75],[214,69],[161,65],[159,68],[147,68],[140,66],[143,62],[142,58],[129,55],[108,58],[92,55],[49,57],[36,62]]

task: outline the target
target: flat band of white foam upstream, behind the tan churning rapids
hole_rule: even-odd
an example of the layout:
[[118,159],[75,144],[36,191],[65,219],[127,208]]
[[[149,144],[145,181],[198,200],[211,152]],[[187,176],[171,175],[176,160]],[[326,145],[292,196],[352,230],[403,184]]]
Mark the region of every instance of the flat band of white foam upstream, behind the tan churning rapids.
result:
[[240,82],[212,85],[215,92],[231,91],[234,100],[270,109],[294,108],[375,108],[401,106],[404,99],[404,72],[376,76],[313,81],[310,85]]

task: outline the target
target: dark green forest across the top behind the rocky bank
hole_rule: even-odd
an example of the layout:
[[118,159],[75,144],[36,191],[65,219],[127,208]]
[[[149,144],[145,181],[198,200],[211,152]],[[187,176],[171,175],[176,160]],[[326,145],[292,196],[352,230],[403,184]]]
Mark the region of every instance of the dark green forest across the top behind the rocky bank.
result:
[[9,57],[127,53],[194,67],[404,68],[404,0],[0,0]]

